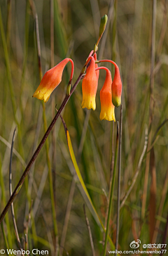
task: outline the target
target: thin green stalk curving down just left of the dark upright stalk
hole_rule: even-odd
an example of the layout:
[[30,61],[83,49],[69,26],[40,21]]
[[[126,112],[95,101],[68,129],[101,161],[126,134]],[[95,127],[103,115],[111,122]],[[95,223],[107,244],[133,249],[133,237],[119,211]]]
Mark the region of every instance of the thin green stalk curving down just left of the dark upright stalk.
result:
[[118,160],[118,129],[119,129],[119,127],[117,124],[117,137],[116,137],[116,150],[115,150],[114,168],[113,168],[113,180],[112,180],[111,189],[110,189],[109,212],[108,212],[108,217],[107,217],[106,237],[105,237],[105,241],[104,241],[103,256],[106,256],[106,247],[107,247],[107,241],[108,241],[108,235],[109,235],[109,224],[110,224],[110,219],[111,219],[111,208],[112,208],[112,203],[113,203],[113,189],[114,189],[114,184],[115,184],[117,160]]

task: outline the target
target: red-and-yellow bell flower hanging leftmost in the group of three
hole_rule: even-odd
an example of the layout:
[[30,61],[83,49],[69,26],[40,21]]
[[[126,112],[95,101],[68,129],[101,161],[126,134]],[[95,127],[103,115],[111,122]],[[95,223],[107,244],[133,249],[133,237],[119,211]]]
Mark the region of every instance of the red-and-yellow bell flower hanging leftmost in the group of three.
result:
[[83,78],[82,91],[83,91],[83,102],[82,108],[96,109],[96,93],[97,93],[97,75],[95,71],[95,60],[94,57],[87,59],[87,63],[90,61],[90,65],[86,70],[86,75]]

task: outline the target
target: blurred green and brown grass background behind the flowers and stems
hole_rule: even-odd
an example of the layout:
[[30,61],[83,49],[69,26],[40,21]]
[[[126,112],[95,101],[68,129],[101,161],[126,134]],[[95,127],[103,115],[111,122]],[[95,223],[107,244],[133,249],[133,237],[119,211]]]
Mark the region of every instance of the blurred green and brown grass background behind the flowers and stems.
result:
[[[30,3],[32,4],[32,1]],[[120,211],[119,248],[120,250],[130,250],[130,243],[137,238],[141,240],[141,245],[152,243],[153,232],[156,233],[155,243],[162,243],[164,238],[167,239],[165,227],[168,210],[167,0],[157,2],[155,41],[153,42],[155,44],[153,94],[150,90],[153,1],[36,0],[34,4],[38,15],[43,74],[63,58],[72,58],[75,64],[73,83],[97,41],[100,18],[104,14],[108,14],[109,23],[100,41],[97,57],[98,59],[109,58],[116,61],[123,80],[121,202],[132,183],[132,177],[137,171],[139,158],[144,148],[145,129],[149,124],[150,98],[154,104],[152,125],[148,127],[148,132],[151,132],[151,144],[153,138],[155,139],[155,133],[158,132],[152,147],[153,153],[151,153],[149,165],[148,162],[146,163],[146,156],[149,154],[146,154],[136,183]],[[10,148],[7,143],[12,141],[15,125],[18,124],[18,134],[15,138],[14,148],[22,160],[13,153],[13,189],[41,140],[44,129],[42,103],[31,97],[38,87],[40,79],[34,15],[29,1],[1,0],[0,6],[2,16],[0,37],[0,198],[2,211],[9,198]],[[109,63],[106,64],[106,67],[111,69],[114,74],[114,69]],[[62,83],[45,104],[48,125],[55,115],[55,104],[59,108],[62,103],[70,72],[71,65],[68,64],[64,70]],[[80,82],[63,114],[80,172],[102,222],[105,222],[106,216],[106,195],[109,193],[113,152],[111,142],[113,124],[99,120],[99,91],[104,84],[104,79],[105,72],[100,72],[95,111],[80,108],[82,102]],[[119,120],[119,117],[120,109],[118,108],[116,109],[116,120]],[[164,125],[159,129],[160,124],[164,121]],[[114,129],[116,134],[116,124],[114,124]],[[85,200],[73,181],[74,169],[61,120],[57,120],[54,131],[48,140],[57,212],[57,243],[60,245],[64,241],[63,246],[69,255],[92,255],[83,212]],[[151,149],[151,145],[148,146],[148,149]],[[29,177],[26,178],[27,181],[14,201],[14,208],[20,241],[24,245],[29,208],[31,200],[33,200],[28,231],[29,248],[50,250],[50,255],[54,255],[55,232],[45,151],[45,147],[43,147],[34,166],[31,167]],[[145,212],[143,213],[146,169],[149,169],[150,172],[148,173],[148,188],[145,195]],[[27,192],[28,186],[29,193]],[[116,196],[117,186],[114,190],[110,223],[110,235],[114,243],[116,242]],[[65,232],[64,219],[69,202],[71,202],[71,207],[68,207],[67,232]],[[88,207],[86,207],[86,213],[90,221],[96,255],[101,255],[103,250],[101,241],[104,239],[102,230],[94,221]],[[158,220],[160,221],[159,226],[156,225]],[[9,247],[18,248],[10,211],[3,226]],[[64,232],[62,232],[63,230]],[[64,238],[62,238],[62,233],[64,233]],[[0,245],[1,248],[6,246],[2,233]],[[63,250],[60,255],[62,253],[66,255],[66,251]]]

